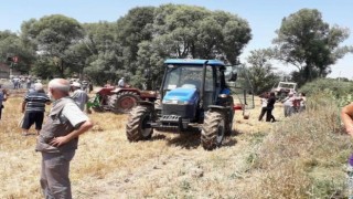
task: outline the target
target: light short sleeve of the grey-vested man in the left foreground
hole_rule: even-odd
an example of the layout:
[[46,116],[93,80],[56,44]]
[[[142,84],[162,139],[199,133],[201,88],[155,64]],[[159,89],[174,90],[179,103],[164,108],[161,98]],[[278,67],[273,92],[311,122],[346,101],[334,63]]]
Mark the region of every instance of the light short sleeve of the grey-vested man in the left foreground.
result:
[[62,111],[62,116],[65,117],[75,128],[79,127],[82,123],[88,121],[87,115],[85,115],[77,104],[74,103],[65,104]]

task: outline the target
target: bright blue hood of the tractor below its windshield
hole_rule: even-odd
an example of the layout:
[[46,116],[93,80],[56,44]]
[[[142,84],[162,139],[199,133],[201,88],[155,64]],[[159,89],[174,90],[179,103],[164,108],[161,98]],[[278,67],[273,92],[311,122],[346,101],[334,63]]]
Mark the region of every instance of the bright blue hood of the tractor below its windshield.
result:
[[167,92],[163,104],[195,104],[199,101],[199,92],[196,88],[178,87]]

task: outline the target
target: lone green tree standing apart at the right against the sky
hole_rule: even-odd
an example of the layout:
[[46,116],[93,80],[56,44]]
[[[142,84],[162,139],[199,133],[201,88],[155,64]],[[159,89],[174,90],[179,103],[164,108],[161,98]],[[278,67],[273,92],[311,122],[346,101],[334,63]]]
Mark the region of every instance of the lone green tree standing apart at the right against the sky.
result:
[[297,66],[301,83],[327,76],[332,64],[352,52],[351,46],[340,46],[349,30],[330,27],[315,9],[301,9],[284,18],[276,33],[277,59]]

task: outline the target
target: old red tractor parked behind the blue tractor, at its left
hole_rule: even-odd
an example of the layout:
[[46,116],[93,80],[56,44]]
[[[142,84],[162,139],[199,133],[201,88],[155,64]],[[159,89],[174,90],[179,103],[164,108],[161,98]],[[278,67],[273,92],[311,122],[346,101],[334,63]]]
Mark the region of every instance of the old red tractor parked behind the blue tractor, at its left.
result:
[[95,112],[129,113],[139,101],[154,102],[157,92],[141,91],[135,87],[106,86],[88,102],[88,107]]

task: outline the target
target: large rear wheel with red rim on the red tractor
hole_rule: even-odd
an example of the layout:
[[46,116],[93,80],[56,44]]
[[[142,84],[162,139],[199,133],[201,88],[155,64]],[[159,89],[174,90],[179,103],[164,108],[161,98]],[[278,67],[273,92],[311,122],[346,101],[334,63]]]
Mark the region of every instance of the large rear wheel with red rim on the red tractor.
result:
[[140,100],[133,92],[121,92],[110,96],[109,105],[114,113],[129,113]]

